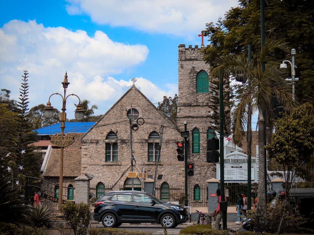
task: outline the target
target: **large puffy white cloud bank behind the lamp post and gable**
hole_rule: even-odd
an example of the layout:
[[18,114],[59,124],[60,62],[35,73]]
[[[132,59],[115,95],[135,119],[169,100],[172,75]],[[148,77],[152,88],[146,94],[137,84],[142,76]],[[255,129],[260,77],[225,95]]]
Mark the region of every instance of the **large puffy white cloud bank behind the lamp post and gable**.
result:
[[[61,82],[67,71],[70,82],[67,95],[75,93],[90,104],[98,105],[97,115],[105,113],[132,85],[129,77],[117,81],[109,75],[139,65],[149,53],[145,45],[114,42],[101,31],[89,37],[82,30],[45,28],[35,20],[12,20],[4,24],[0,41],[0,88],[12,91],[11,98],[18,99],[21,76],[26,69],[29,72],[29,108],[46,104],[51,93],[63,94]],[[156,96],[149,97],[153,102],[162,100],[164,91],[145,78],[138,80],[136,85],[143,87],[145,95],[150,94],[152,88],[156,91]],[[62,99],[53,96],[51,103],[60,110]],[[78,103],[78,99],[70,96],[68,118],[73,117],[73,103]]]

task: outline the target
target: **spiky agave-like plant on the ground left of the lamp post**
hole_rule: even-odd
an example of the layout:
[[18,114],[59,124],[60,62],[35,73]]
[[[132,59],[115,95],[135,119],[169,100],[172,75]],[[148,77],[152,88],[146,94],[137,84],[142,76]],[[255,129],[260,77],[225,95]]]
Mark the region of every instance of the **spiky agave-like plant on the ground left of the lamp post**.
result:
[[53,214],[48,210],[45,205],[35,205],[30,209],[28,217],[34,222],[36,227],[43,227],[55,220]]

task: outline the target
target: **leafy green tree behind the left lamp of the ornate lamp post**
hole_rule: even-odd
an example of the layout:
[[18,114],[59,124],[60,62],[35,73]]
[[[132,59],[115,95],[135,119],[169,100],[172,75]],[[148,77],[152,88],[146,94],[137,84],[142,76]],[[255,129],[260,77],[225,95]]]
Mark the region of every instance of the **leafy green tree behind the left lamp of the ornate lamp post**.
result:
[[52,118],[48,119],[48,118],[45,118],[45,115],[44,115],[45,107],[46,106],[44,104],[39,104],[30,109],[29,119],[30,119],[30,122],[33,124],[34,130],[60,122],[60,111],[57,109],[54,109]]

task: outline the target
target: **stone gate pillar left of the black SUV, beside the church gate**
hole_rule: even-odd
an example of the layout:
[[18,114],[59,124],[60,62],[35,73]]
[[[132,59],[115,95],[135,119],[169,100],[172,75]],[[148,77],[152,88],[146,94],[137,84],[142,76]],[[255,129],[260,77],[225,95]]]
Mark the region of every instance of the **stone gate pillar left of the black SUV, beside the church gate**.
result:
[[75,180],[75,203],[89,204],[89,178],[85,175],[78,176]]

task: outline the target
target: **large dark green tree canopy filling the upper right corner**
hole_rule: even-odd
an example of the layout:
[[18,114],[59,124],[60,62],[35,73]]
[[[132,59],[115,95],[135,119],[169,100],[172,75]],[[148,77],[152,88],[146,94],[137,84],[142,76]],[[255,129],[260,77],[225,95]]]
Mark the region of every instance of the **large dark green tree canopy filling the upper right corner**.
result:
[[[204,34],[209,37],[209,45],[204,49],[204,58],[214,66],[220,55],[247,54],[248,44],[252,44],[252,57],[257,58],[261,50],[261,10],[260,1],[240,0],[236,8],[231,8],[225,18],[217,24],[208,23]],[[284,39],[289,48],[296,49],[296,94],[303,101],[313,102],[314,91],[314,2],[312,0],[265,1],[266,37]],[[290,50],[289,50],[290,51]],[[274,60],[291,60],[289,51],[274,49],[270,56]],[[286,77],[291,70],[287,70]]]

